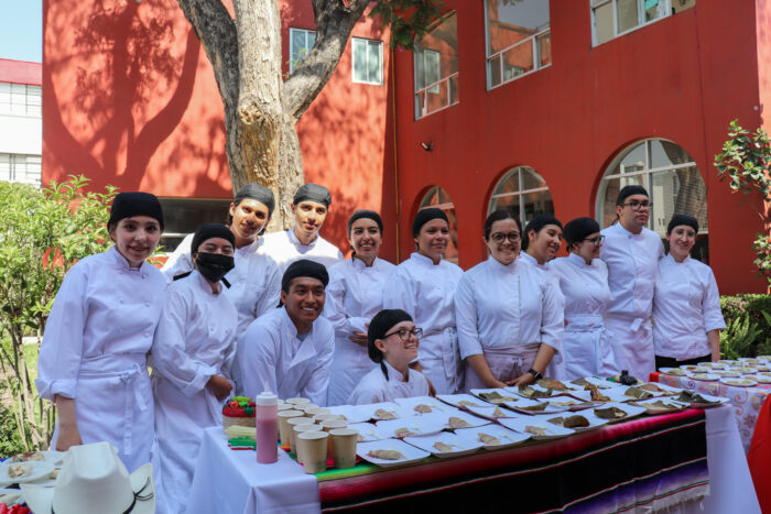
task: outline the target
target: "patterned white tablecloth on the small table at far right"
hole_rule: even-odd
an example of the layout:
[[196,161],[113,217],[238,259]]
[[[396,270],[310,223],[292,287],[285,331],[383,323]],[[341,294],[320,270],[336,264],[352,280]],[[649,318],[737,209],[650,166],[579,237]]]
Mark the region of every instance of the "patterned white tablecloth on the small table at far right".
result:
[[765,397],[771,394],[771,384],[758,384],[754,387],[737,387],[720,382],[705,382],[689,376],[675,376],[666,373],[651,373],[651,381],[728,398],[736,415],[736,423],[745,453],[749,451],[760,407],[763,406]]

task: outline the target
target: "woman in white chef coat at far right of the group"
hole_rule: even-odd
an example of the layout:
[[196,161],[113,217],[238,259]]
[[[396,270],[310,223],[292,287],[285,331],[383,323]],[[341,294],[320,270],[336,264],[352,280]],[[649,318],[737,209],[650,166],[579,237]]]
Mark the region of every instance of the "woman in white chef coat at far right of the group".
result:
[[676,368],[720,359],[726,328],[712,269],[691,258],[698,220],[675,215],[666,228],[670,253],[659,260],[653,294],[655,367]]

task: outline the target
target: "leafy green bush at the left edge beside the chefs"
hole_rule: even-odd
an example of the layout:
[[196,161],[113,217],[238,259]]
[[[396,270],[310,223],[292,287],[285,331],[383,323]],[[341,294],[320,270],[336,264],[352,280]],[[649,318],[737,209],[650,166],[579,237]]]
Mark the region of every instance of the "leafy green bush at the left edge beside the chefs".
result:
[[44,189],[0,182],[0,372],[28,449],[47,445],[54,416],[36,395],[35,363],[26,362],[31,350],[23,338],[43,332],[67,271],[110,245],[106,220],[116,188],[86,193],[88,182],[70,176]]

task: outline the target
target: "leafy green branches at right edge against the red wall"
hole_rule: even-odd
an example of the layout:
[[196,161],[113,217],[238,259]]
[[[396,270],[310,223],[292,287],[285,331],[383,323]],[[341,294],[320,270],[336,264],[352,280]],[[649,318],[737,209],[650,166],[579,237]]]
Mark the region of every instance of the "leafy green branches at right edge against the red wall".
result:
[[[723,152],[715,155],[715,167],[720,182],[729,178],[728,186],[734,193],[760,193],[763,206],[768,209],[771,207],[771,143],[768,134],[763,129],[750,133],[739,125],[738,120],[734,120],[728,128],[728,136],[730,139],[723,145]],[[771,219],[767,209],[758,212],[767,233],[756,234],[752,251],[758,255],[753,263],[758,266],[759,274],[765,276],[771,285],[771,236],[768,233]]]

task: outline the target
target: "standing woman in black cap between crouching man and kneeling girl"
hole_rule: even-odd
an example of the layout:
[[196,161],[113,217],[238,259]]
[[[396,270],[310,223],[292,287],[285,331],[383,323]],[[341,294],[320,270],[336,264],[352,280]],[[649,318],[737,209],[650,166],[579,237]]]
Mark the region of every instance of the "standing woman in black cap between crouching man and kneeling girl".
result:
[[383,307],[386,280],[397,267],[378,258],[383,222],[373,210],[357,210],[348,220],[350,259],[329,269],[324,315],[335,326],[335,358],[328,405],[341,405],[374,364],[367,356],[367,326]]

